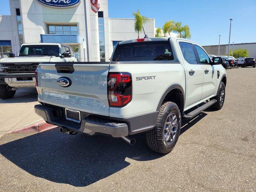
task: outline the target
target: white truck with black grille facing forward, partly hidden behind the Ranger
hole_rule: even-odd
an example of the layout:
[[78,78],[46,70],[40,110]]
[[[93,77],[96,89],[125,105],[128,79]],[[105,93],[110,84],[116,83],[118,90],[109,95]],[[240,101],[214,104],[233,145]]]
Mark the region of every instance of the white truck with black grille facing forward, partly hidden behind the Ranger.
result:
[[0,58],[0,98],[14,97],[18,88],[36,87],[40,62],[77,62],[72,48],[58,43],[22,44],[18,57]]

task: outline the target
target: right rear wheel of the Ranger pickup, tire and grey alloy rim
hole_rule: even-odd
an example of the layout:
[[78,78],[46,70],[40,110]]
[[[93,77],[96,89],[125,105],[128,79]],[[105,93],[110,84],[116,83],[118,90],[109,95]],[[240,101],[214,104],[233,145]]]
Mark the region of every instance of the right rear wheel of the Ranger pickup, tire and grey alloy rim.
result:
[[146,139],[151,150],[166,154],[172,151],[180,135],[181,116],[174,102],[162,104],[156,126],[146,132]]

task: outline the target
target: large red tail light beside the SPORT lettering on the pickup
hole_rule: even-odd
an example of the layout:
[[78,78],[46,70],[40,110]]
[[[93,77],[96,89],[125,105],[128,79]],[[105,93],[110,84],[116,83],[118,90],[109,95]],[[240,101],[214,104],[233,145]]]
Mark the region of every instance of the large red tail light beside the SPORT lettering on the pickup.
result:
[[127,72],[108,73],[108,104],[124,107],[132,100],[132,75]]

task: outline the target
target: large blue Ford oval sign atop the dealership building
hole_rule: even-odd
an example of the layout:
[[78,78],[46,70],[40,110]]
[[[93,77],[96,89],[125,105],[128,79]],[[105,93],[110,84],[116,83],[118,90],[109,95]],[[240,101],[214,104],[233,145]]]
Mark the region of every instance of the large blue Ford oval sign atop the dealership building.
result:
[[55,8],[70,8],[78,6],[81,0],[38,0],[41,4],[45,6],[55,7]]

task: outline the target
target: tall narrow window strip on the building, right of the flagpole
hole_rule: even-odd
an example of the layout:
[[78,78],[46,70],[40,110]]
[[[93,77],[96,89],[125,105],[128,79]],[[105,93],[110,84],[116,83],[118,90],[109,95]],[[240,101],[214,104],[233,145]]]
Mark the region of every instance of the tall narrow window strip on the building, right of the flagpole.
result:
[[103,12],[98,11],[99,40],[100,40],[100,61],[105,61],[105,33]]

